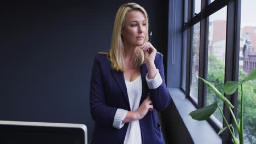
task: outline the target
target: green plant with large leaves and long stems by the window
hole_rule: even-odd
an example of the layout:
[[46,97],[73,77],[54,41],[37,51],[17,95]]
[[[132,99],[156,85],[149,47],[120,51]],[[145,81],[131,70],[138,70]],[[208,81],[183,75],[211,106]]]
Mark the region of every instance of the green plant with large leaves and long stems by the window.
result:
[[189,113],[189,115],[193,118],[196,119],[197,121],[203,121],[206,120],[208,118],[210,118],[210,116],[213,114],[214,111],[217,110],[217,108],[219,109],[220,113],[222,114],[222,117],[224,119],[224,122],[226,125],[228,125],[227,127],[222,128],[218,134],[222,133],[225,129],[228,128],[228,130],[230,131],[230,134],[232,136],[232,139],[234,140],[235,144],[238,143],[242,143],[243,144],[243,83],[250,81],[250,80],[255,80],[256,79],[256,69],[254,69],[250,74],[248,74],[248,76],[243,79],[241,82],[236,82],[236,81],[228,81],[225,83],[223,91],[225,94],[233,94],[238,86],[241,86],[241,117],[240,117],[240,122],[237,121],[232,109],[234,108],[234,106],[230,103],[230,101],[228,99],[226,99],[224,97],[224,95],[222,93],[220,93],[218,91],[218,89],[216,87],[214,87],[210,82],[202,79],[201,77],[199,77],[199,79],[201,79],[203,81],[203,83],[205,83],[208,87],[210,87],[212,89],[212,91],[216,94],[216,96],[224,101],[224,103],[228,106],[228,109],[231,113],[232,118],[234,119],[234,123],[236,125],[236,130],[239,136],[239,140],[236,139],[235,137],[235,130],[234,127],[232,126],[232,124],[229,124],[226,121],[226,118],[223,115],[222,109],[220,108],[220,106],[218,105],[219,100],[216,101],[215,103],[208,105],[206,107],[202,107],[201,109],[192,111]]

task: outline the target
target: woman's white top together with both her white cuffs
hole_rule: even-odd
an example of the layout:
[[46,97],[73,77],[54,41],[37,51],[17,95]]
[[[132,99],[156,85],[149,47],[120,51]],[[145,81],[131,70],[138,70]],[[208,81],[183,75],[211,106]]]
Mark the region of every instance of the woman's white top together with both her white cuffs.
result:
[[[155,75],[154,79],[149,80],[148,74],[146,75],[146,80],[148,83],[148,87],[150,89],[158,88],[162,84],[162,78],[158,73]],[[141,75],[137,77],[134,81],[125,81],[125,85],[127,88],[127,94],[129,98],[130,103],[130,109],[131,111],[136,111],[139,108],[139,101],[141,101],[141,95],[142,95],[142,80]],[[121,129],[124,126],[124,123],[122,122],[126,115],[127,110],[124,109],[118,109],[115,113],[113,127],[117,129]],[[129,123],[126,135],[125,135],[125,141],[124,143],[142,143],[141,139],[141,127],[139,126],[139,120],[132,121]]]

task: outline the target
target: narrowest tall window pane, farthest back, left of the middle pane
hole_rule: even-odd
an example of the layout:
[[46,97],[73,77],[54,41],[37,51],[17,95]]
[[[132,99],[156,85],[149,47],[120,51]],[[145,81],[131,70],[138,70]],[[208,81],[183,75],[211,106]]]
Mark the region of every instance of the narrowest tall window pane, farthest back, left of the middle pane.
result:
[[192,76],[190,96],[197,103],[198,97],[198,74],[199,74],[199,46],[200,46],[200,22],[193,27],[193,51],[192,51]]

